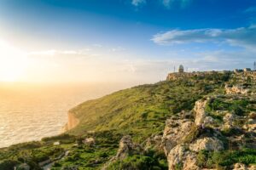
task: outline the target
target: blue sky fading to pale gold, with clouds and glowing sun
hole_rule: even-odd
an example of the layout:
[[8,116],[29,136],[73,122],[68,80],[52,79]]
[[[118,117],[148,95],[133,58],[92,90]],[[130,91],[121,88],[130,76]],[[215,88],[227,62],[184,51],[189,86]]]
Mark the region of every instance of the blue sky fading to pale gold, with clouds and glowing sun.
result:
[[158,82],[254,60],[255,0],[0,1],[0,82]]

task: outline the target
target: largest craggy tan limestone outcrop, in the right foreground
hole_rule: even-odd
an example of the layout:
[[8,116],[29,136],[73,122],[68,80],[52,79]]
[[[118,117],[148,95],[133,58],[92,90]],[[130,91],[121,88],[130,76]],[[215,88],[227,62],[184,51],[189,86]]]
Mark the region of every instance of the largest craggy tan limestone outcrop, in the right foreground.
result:
[[[177,166],[184,170],[200,169],[196,165],[196,154],[200,150],[224,150],[224,144],[216,137],[218,135],[215,132],[212,132],[211,137],[201,136],[201,133],[207,132],[207,124],[214,122],[205,111],[207,101],[208,99],[201,99],[195,102],[195,121],[191,118],[192,115],[189,119],[186,118],[188,113],[180,113],[166,121],[162,145],[170,170],[176,169]],[[186,116],[183,116],[184,114]]]

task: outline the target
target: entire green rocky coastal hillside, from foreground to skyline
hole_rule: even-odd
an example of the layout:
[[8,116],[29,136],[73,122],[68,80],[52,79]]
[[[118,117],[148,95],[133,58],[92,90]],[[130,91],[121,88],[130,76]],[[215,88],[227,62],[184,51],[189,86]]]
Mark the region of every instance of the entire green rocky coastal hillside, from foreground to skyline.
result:
[[76,127],[0,150],[0,167],[40,169],[54,162],[52,169],[253,169],[254,75],[169,75],[168,81],[86,101],[69,111],[79,120]]

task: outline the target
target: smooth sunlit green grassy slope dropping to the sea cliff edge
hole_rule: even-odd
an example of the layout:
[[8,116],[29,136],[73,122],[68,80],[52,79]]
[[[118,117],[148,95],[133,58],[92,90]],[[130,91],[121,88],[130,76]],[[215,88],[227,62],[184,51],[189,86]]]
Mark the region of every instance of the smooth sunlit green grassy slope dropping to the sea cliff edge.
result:
[[91,130],[116,130],[143,142],[148,136],[163,131],[168,116],[189,111],[197,99],[222,89],[222,79],[224,75],[216,74],[215,79],[211,76],[211,79],[194,77],[158,82],[84,102],[71,110],[80,123],[68,133],[80,135]]

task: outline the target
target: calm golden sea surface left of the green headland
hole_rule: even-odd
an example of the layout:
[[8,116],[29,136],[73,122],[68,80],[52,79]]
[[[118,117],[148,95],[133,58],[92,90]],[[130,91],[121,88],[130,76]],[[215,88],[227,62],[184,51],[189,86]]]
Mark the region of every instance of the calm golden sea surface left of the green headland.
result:
[[67,111],[127,84],[0,84],[0,148],[61,133]]

